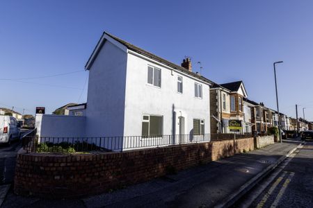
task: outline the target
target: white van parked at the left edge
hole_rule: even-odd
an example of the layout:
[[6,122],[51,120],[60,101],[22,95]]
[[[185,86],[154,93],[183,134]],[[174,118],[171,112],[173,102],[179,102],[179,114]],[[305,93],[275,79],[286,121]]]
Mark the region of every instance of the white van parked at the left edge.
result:
[[13,139],[19,139],[19,123],[12,116],[0,115],[0,143],[10,144]]

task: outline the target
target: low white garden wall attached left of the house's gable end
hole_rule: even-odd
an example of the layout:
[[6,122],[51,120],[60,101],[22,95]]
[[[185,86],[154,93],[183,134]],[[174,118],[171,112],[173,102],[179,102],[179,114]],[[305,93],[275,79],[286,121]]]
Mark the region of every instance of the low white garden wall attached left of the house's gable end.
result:
[[39,137],[85,137],[85,116],[36,114]]

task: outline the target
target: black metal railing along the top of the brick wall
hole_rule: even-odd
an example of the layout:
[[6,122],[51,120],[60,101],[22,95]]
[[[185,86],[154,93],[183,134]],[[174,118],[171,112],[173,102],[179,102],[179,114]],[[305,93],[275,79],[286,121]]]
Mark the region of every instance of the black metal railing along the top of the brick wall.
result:
[[[25,137],[23,148],[37,153],[76,153],[90,151],[123,151],[162,146],[193,144],[227,139],[243,139],[251,134],[156,135],[130,137]],[[26,142],[27,141],[27,142]]]

